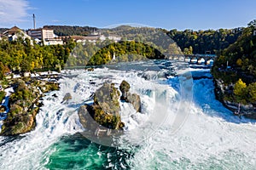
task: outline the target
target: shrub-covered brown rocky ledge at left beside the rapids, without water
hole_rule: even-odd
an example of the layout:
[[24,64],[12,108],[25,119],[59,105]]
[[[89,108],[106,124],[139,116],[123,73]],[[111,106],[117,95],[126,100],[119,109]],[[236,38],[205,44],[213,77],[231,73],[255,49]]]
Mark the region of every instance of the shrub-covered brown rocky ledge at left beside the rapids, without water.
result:
[[20,78],[9,82],[9,85],[15,92],[9,96],[9,113],[3,121],[0,134],[7,136],[30,132],[36,125],[39,107],[43,105],[39,99],[44,93],[58,90],[59,84]]

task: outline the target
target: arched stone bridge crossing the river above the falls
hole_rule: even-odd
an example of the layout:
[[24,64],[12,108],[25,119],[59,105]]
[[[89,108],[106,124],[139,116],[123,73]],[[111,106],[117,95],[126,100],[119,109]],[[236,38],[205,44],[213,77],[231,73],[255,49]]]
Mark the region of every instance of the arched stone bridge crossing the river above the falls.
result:
[[180,60],[194,64],[209,65],[217,58],[216,54],[164,54],[167,59]]

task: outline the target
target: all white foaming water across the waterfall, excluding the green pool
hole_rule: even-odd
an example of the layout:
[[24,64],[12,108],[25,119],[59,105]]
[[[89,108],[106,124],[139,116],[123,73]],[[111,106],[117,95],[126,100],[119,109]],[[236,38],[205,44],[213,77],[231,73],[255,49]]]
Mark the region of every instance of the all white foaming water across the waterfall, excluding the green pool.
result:
[[[205,74],[204,71],[201,72]],[[143,113],[140,114],[136,113],[130,104],[120,102],[121,116],[127,132],[136,132],[137,127],[147,123],[150,119],[149,113],[160,108],[156,105],[160,105],[161,98],[169,101],[165,108],[168,113],[165,122],[161,123],[160,127],[151,129],[154,131],[149,133],[151,136],[141,141],[140,148],[129,161],[131,168],[255,167],[255,122],[232,116],[232,113],[215,99],[212,80],[194,81],[194,100],[193,105],[190,105],[189,101],[183,101],[178,94],[180,86],[177,77],[164,82],[154,79],[152,71],[147,72],[148,79],[139,76],[140,73],[107,68],[95,69],[93,72],[79,70],[64,73],[66,77],[60,80],[61,90],[44,97],[44,106],[38,113],[35,130],[22,135],[22,139],[5,144],[3,143],[6,138],[0,137],[0,144],[3,144],[0,146],[1,169],[44,168],[44,163],[47,162],[42,163],[42,160],[49,160],[49,155],[55,151],[49,150],[50,145],[58,142],[63,135],[82,130],[77,111],[84,100],[89,99],[103,82],[113,82],[118,88],[124,79],[131,84],[131,93],[140,94],[143,107]],[[70,93],[73,99],[62,104],[62,99],[67,93]],[[179,107],[184,109],[178,110]],[[178,114],[183,114],[177,111],[189,111],[189,117],[180,131],[172,134],[173,120]]]

